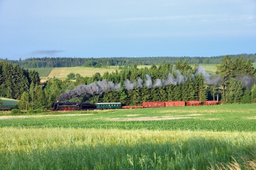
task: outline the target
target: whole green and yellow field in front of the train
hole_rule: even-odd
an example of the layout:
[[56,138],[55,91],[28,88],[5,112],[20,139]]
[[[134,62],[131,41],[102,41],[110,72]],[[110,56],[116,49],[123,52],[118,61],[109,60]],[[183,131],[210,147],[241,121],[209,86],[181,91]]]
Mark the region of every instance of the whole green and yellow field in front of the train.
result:
[[244,169],[255,125],[255,104],[4,114],[0,169]]

